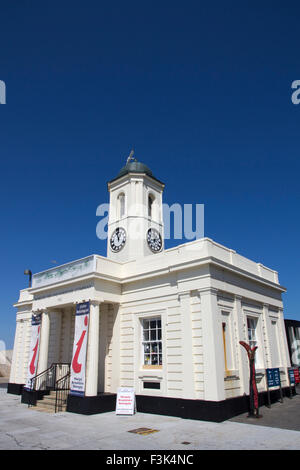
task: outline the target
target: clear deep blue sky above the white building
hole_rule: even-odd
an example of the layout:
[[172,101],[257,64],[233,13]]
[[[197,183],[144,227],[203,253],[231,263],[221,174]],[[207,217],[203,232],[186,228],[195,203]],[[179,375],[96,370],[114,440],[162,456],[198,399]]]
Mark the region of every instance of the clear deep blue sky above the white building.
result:
[[165,202],[205,204],[206,236],[279,271],[285,316],[300,319],[299,2],[16,0],[0,10],[7,347],[24,269],[105,255],[96,208],[132,147],[166,183]]

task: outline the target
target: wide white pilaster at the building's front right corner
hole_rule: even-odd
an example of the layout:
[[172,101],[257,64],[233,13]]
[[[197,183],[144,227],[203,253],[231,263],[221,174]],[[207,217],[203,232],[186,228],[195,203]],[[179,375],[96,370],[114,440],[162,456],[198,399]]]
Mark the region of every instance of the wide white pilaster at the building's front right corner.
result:
[[199,290],[203,335],[204,399],[225,400],[224,347],[222,319],[219,314],[217,290]]

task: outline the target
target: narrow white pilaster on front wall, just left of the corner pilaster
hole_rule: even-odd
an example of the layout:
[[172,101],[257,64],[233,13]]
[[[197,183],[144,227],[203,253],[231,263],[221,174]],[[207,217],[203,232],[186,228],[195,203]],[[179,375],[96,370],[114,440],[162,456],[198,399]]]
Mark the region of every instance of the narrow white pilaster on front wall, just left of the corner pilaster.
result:
[[178,300],[182,325],[183,398],[192,399],[195,398],[195,377],[190,292],[179,294]]

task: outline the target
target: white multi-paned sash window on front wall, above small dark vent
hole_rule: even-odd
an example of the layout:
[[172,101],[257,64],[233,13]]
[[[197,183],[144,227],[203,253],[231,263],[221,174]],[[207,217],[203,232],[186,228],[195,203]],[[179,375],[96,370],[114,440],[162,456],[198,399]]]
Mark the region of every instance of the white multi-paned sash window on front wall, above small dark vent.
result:
[[162,366],[161,318],[143,320],[143,366],[160,368]]

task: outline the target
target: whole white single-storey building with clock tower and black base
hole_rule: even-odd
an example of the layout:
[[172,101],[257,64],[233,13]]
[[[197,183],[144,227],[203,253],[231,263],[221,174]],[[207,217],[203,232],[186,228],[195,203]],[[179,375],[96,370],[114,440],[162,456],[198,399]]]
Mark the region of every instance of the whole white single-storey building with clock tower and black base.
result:
[[129,161],[108,183],[107,257],[34,274],[32,287],[21,290],[10,393],[24,401],[34,393],[22,390],[32,314],[42,315],[42,373],[71,363],[76,304],[87,301],[84,396],[69,395],[69,411],[113,410],[118,387],[134,387],[140,411],[226,419],[248,406],[249,366],[239,341],[258,346],[259,392],[270,367],[280,368],[288,386],[285,288],[277,272],[208,238],[164,250],[163,189],[149,168]]

